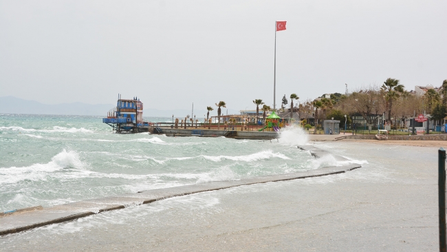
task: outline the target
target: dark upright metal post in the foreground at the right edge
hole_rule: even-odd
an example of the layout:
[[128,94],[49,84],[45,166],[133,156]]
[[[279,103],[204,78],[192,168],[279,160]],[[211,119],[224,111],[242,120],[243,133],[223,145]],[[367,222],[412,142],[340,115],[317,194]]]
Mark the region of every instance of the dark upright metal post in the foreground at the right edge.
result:
[[446,150],[438,151],[439,251],[446,252]]

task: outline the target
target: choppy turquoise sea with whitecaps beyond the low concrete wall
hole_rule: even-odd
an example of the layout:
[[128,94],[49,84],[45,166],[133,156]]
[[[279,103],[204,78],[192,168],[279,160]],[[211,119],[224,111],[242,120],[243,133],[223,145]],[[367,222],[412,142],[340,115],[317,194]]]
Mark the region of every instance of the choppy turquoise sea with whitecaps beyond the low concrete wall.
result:
[[[166,121],[170,118],[147,118]],[[96,116],[0,115],[0,211],[328,165],[297,143],[112,134]]]

